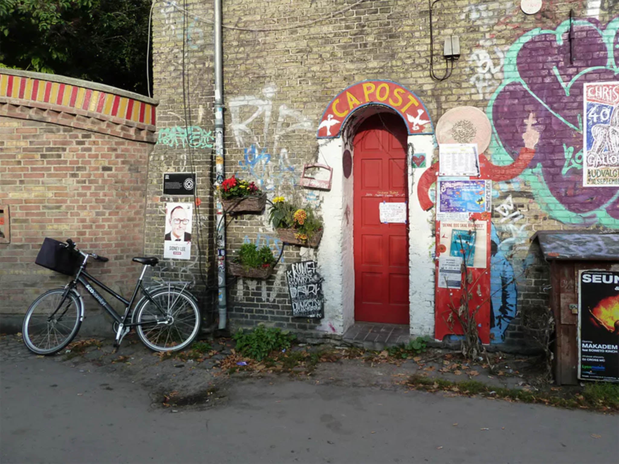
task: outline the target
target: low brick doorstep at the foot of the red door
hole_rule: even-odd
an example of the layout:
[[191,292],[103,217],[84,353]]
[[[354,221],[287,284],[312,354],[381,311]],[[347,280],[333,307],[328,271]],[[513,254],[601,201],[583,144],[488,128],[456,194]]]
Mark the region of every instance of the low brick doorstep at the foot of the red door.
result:
[[382,351],[387,346],[408,343],[410,340],[408,325],[377,324],[375,322],[355,322],[344,333],[344,342],[366,350]]

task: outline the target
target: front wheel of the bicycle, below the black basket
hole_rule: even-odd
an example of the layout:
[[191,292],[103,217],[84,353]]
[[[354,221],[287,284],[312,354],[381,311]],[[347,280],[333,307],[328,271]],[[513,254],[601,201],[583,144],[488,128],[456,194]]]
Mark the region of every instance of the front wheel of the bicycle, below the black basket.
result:
[[54,354],[71,343],[82,325],[81,306],[76,294],[64,295],[63,288],[46,291],[28,308],[22,324],[22,338],[28,350]]

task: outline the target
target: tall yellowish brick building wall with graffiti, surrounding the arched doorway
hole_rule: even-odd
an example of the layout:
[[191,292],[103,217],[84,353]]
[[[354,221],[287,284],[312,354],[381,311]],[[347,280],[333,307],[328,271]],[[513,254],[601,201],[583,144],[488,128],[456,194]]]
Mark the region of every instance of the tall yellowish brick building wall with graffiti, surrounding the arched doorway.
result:
[[[270,198],[287,195],[319,207],[318,195],[297,187],[300,171],[303,163],[316,161],[315,131],[331,98],[361,80],[389,79],[404,85],[423,100],[435,123],[456,106],[480,108],[495,134],[485,154],[497,165],[513,163],[522,148],[524,120],[535,113],[535,128],[541,134],[535,158],[513,178],[493,183],[493,223],[500,250],[517,277],[518,304],[547,304],[539,296],[547,281],[543,266],[533,268],[535,278],[526,273],[532,262],[532,234],[537,230],[619,228],[617,189],[581,187],[582,132],[578,125],[582,82],[617,80],[607,58],[614,53],[611,61],[617,66],[619,57],[613,48],[617,20],[612,20],[619,12],[612,11],[616,10],[612,1],[573,0],[543,2],[539,14],[525,15],[519,4],[516,0],[438,2],[432,24],[435,73],[441,76],[444,72],[445,37],[459,35],[462,51],[451,77],[435,82],[430,77],[428,2],[224,2],[227,176],[238,174],[256,181]],[[188,0],[186,8],[189,14],[184,25],[175,4],[155,8],[154,85],[155,97],[162,102],[159,128],[199,126],[208,132],[214,125],[212,25],[203,19],[212,17],[212,6],[203,0]],[[571,58],[566,45],[570,11],[577,19]],[[594,66],[601,69],[583,72]],[[184,98],[183,75],[188,82]],[[162,197],[160,176],[165,171],[191,169],[192,157],[199,196],[208,197],[212,194],[210,147],[189,150],[180,142],[160,139],[150,157],[154,172],[149,175],[146,240],[151,252],[162,247],[162,206],[169,200]],[[212,224],[209,209],[204,223]],[[214,260],[213,231],[204,230],[209,234],[204,265],[209,267]],[[274,252],[282,246],[266,215],[230,220],[228,253],[243,241],[267,244]],[[232,283],[228,289],[230,322],[268,321],[292,329],[313,329],[318,322],[290,317],[283,270],[292,260],[315,256],[311,250],[287,246],[283,265],[274,277],[266,282]],[[175,262],[168,269],[197,275],[195,264],[188,267]],[[517,319],[506,337],[512,333],[521,333]]]

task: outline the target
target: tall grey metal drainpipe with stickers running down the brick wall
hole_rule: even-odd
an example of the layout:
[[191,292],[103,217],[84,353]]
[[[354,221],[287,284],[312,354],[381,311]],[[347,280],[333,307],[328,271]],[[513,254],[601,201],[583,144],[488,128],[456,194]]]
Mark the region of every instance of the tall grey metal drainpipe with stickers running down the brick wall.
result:
[[[225,177],[223,169],[223,48],[222,48],[222,0],[215,0],[215,186]],[[217,286],[219,329],[226,328],[226,221],[222,202],[215,194],[215,217],[217,218]]]

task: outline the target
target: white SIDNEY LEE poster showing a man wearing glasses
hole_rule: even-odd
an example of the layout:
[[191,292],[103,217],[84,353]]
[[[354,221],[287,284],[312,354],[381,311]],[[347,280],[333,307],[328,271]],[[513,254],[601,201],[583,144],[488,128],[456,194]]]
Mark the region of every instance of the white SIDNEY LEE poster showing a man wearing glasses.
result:
[[192,218],[193,204],[165,204],[165,236],[163,237],[164,258],[191,258]]

